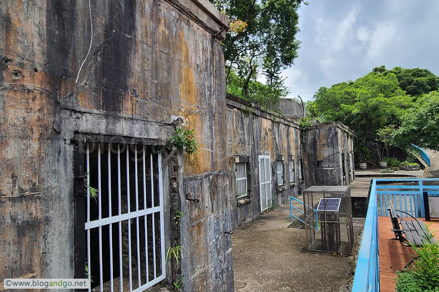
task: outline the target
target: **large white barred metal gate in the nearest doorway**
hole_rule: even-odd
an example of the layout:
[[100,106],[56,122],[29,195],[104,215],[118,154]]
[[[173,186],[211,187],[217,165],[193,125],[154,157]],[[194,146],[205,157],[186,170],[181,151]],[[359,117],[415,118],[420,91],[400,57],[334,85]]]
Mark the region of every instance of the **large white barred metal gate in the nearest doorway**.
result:
[[[85,140],[85,139],[84,139]],[[85,141],[84,141],[85,142]],[[92,269],[94,267],[91,266],[91,250],[90,246],[98,245],[99,246],[99,275],[100,275],[100,291],[104,290],[103,287],[103,260],[108,260],[105,258],[108,254],[104,254],[103,252],[103,234],[102,228],[109,229],[109,268],[110,274],[106,275],[110,278],[111,291],[118,290],[119,288],[114,287],[114,272],[119,273],[120,277],[120,291],[124,291],[123,287],[123,269],[122,269],[122,222],[128,222],[127,231],[128,231],[128,244],[129,244],[129,281],[130,281],[130,292],[141,292],[145,289],[157,284],[159,281],[162,281],[166,277],[166,257],[165,257],[165,226],[164,226],[164,210],[163,210],[163,180],[162,180],[162,156],[161,153],[150,153],[146,154],[145,149],[149,146],[145,145],[136,145],[136,144],[110,144],[110,143],[94,143],[93,146],[97,146],[97,165],[90,166],[90,144],[83,142],[79,143],[76,146],[75,151],[75,173],[76,173],[76,184],[75,184],[75,192],[76,192],[76,200],[75,200],[75,223],[76,223],[76,233],[77,236],[75,238],[76,241],[76,249],[79,250],[79,253],[76,253],[76,276],[81,274],[81,269],[84,270],[82,262],[86,262],[88,277],[91,277]],[[131,147],[133,156],[130,155],[129,147]],[[82,152],[81,152],[82,148]],[[106,149],[105,149],[106,148]],[[123,149],[126,149],[124,152]],[[121,154],[126,157],[126,161],[121,161]],[[149,156],[149,157],[148,157]],[[115,174],[112,174],[112,169],[114,170],[116,167],[114,165],[117,157],[117,180],[115,180]],[[102,159],[106,160],[106,163],[102,163]],[[153,163],[154,160],[154,163]],[[81,162],[85,164],[85,167],[81,165]],[[133,162],[134,161],[134,162]],[[95,161],[93,162],[93,164]],[[112,167],[113,163],[113,167]],[[123,165],[123,164],[126,164]],[[134,164],[134,165],[133,165]],[[149,164],[149,165],[148,165]],[[140,172],[139,166],[140,165]],[[133,167],[134,166],[134,167]],[[90,171],[96,169],[97,167],[97,182],[90,182]],[[150,171],[151,179],[147,181],[146,179],[146,168],[148,167],[148,171]],[[104,170],[102,170],[104,168]],[[106,170],[105,170],[106,168]],[[122,172],[121,168],[126,168],[126,182],[122,182]],[[132,176],[130,177],[130,171],[134,168],[134,179]],[[82,175],[79,175],[81,174]],[[85,173],[85,175],[84,175]],[[108,182],[102,181],[101,173],[104,176],[108,177]],[[125,175],[125,174],[123,174]],[[86,179],[86,183],[84,183],[84,179]],[[132,182],[134,180],[134,183]],[[78,183],[77,183],[78,182]],[[108,183],[108,186],[105,185]],[[126,186],[126,193],[122,192],[121,184]],[[155,185],[157,184],[157,185]],[[90,216],[90,189],[91,185],[97,185],[97,207],[98,214],[97,219]],[[113,185],[113,187],[112,187]],[[115,190],[117,185],[117,193],[112,193],[112,189]],[[130,192],[131,188],[131,192]],[[147,196],[147,188],[151,188],[148,196],[151,194],[151,197]],[[81,193],[82,189],[82,193]],[[85,189],[85,194],[84,194]],[[135,191],[135,195],[133,194],[133,190]],[[143,190],[143,191],[142,191]],[[158,192],[158,193],[156,193]],[[127,212],[122,211],[122,197],[126,196],[127,200]],[[108,197],[108,198],[105,198]],[[135,202],[130,202],[135,197]],[[108,203],[107,203],[108,199]],[[157,201],[158,199],[158,201]],[[156,200],[156,201],[155,201]],[[103,201],[105,202],[103,204]],[[117,208],[112,207],[112,202],[118,202]],[[142,205],[143,203],[143,205]],[[81,207],[82,205],[82,207]],[[135,205],[135,210],[132,210],[132,207]],[[84,206],[86,210],[83,209]],[[108,210],[105,208],[108,207]],[[124,210],[125,210],[125,207]],[[115,209],[118,211],[115,212]],[[116,214],[115,214],[116,213]],[[96,215],[96,214],[94,214]],[[81,218],[82,217],[82,218]],[[155,222],[155,221],[159,222]],[[144,221],[144,222],[142,222]],[[139,224],[140,223],[140,224]],[[119,267],[114,267],[113,264],[113,245],[117,246],[116,240],[113,241],[113,224],[115,227],[118,227],[118,239],[119,239]],[[116,226],[117,225],[117,226]],[[142,227],[140,227],[143,225]],[[82,226],[82,228],[81,228]],[[152,228],[152,238],[148,237],[148,226]],[[157,227],[159,230],[157,230]],[[140,230],[144,229],[144,230]],[[132,230],[133,229],[133,230]],[[91,242],[90,232],[94,230],[98,231],[99,234],[99,242]],[[135,234],[132,234],[135,232]],[[86,233],[86,239],[83,235]],[[140,238],[140,233],[144,233],[144,239]],[[132,254],[132,238],[134,239],[135,246],[137,246],[137,250],[134,251],[135,256]],[[105,239],[107,242],[108,239]],[[140,259],[140,243],[144,242],[144,251],[145,257]],[[148,253],[148,244],[152,244],[153,249]],[[86,246],[86,252],[83,250],[83,246]],[[134,245],[133,245],[134,246]],[[105,247],[107,250],[108,247]],[[152,258],[150,259],[149,254],[152,253]],[[105,257],[104,257],[105,256]],[[133,271],[132,262],[136,263],[137,268]],[[151,263],[152,262],[152,263]],[[116,260],[117,263],[117,260]],[[153,271],[148,272],[148,265],[153,267]],[[140,267],[145,267],[146,271],[140,271]],[[117,269],[117,270],[115,270]],[[85,274],[84,272],[82,272]],[[133,274],[137,274],[137,287],[133,287]],[[149,277],[152,274],[153,277]],[[86,277],[83,277],[86,278]],[[91,291],[91,287],[88,289]]]

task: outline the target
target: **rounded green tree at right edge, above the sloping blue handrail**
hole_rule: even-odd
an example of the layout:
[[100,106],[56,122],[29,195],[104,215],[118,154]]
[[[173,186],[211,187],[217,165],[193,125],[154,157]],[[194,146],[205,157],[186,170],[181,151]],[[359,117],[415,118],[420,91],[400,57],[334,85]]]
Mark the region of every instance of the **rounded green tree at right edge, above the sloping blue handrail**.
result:
[[433,91],[419,97],[413,107],[402,116],[396,130],[395,141],[407,147],[417,146],[439,151],[439,92]]

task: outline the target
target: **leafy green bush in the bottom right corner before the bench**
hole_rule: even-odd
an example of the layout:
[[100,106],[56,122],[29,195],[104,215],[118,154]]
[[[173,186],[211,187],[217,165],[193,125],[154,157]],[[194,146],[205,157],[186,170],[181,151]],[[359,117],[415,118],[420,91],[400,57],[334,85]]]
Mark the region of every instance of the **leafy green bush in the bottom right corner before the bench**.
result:
[[423,246],[410,244],[417,260],[403,271],[396,271],[396,292],[439,291],[439,245],[425,241]]

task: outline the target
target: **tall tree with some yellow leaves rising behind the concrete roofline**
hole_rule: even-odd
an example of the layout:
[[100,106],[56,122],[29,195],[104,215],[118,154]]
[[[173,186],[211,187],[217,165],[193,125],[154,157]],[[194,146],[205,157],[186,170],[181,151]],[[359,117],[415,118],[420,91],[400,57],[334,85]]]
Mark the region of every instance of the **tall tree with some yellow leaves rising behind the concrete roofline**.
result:
[[[232,21],[223,43],[227,92],[270,107],[288,94],[280,71],[293,64],[302,0],[210,0]],[[266,84],[256,81],[263,74]],[[268,93],[268,94],[267,94]],[[265,100],[265,97],[267,100]]]

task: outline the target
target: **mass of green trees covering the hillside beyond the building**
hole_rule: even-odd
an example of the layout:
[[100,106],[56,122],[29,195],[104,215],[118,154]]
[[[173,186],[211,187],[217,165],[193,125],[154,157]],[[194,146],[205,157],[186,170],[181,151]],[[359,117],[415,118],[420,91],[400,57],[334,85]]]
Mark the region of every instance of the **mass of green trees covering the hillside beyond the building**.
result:
[[439,77],[427,69],[381,66],[355,81],[320,87],[306,110],[312,117],[341,121],[355,130],[356,155],[362,161],[376,154],[365,146],[366,136],[393,128],[388,145],[406,148],[414,143],[439,150],[438,87]]

